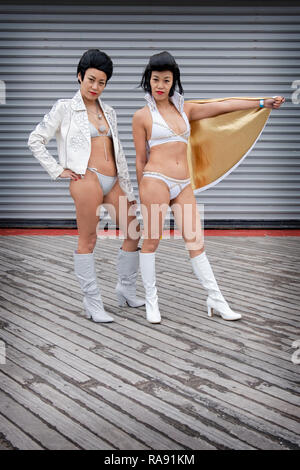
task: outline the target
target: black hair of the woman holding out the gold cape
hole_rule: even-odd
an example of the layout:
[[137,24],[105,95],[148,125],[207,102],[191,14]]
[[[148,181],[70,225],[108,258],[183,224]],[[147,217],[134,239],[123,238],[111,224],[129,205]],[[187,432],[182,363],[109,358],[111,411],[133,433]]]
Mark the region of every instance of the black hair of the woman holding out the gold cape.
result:
[[150,78],[153,71],[162,72],[168,70],[173,73],[173,84],[169,91],[169,96],[174,95],[175,88],[183,95],[183,88],[180,82],[180,70],[174,57],[167,51],[154,54],[150,57],[148,65],[142,76],[140,86],[148,93],[151,94]]

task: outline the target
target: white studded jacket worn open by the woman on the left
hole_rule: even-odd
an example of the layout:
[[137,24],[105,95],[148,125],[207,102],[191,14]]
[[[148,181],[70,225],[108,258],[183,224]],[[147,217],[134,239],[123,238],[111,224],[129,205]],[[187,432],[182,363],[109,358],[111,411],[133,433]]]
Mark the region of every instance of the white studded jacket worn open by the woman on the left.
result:
[[[112,133],[119,184],[129,201],[135,200],[122,144],[118,136],[115,110],[99,99]],[[46,149],[56,137],[59,163]],[[36,126],[28,139],[28,146],[52,179],[64,169],[85,174],[91,153],[91,134],[88,115],[80,91],[72,99],[58,100],[50,112]]]

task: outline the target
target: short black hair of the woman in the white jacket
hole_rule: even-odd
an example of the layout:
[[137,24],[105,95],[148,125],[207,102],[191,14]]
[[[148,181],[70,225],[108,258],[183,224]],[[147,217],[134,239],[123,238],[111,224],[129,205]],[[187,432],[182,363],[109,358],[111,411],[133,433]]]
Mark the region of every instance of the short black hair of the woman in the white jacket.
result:
[[[113,63],[111,58],[99,49],[89,49],[82,55],[77,66],[77,75],[80,74],[81,79],[83,80],[85,72],[90,68],[104,72],[107,76],[107,82],[113,73]],[[79,80],[78,83],[80,83]]]

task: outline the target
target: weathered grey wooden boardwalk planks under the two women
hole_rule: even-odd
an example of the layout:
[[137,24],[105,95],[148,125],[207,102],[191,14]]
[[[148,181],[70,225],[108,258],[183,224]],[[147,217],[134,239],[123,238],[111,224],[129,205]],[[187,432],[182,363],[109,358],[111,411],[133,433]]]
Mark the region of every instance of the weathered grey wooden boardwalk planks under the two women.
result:
[[95,250],[115,322],[87,320],[76,243],[0,237],[1,449],[300,448],[299,238],[206,238],[238,322],[207,317],[182,240],[162,240],[160,325],[117,305],[120,240]]

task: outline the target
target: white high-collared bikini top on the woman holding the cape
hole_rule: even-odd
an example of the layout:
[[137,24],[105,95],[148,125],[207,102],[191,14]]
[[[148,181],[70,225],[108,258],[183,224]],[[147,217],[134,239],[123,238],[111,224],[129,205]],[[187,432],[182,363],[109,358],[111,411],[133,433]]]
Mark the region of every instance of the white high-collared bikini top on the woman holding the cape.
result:
[[175,91],[174,95],[170,97],[170,100],[176,106],[186,124],[186,130],[182,134],[176,134],[176,132],[168,126],[158,111],[155,99],[150,95],[150,93],[146,93],[145,100],[147,101],[152,115],[152,132],[151,138],[148,140],[148,147],[151,148],[155,145],[166,144],[168,142],[184,142],[187,144],[191,127],[187,115],[184,112],[183,96]]

